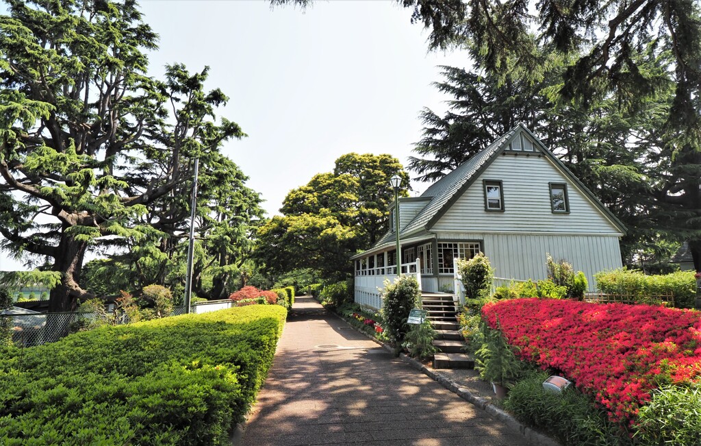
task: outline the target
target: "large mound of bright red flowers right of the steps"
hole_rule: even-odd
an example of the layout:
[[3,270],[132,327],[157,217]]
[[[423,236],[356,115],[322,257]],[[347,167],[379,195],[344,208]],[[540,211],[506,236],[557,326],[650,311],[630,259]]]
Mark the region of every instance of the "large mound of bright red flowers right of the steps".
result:
[[663,306],[514,299],[486,304],[517,355],[561,371],[612,421],[634,424],[663,382],[701,378],[701,313]]

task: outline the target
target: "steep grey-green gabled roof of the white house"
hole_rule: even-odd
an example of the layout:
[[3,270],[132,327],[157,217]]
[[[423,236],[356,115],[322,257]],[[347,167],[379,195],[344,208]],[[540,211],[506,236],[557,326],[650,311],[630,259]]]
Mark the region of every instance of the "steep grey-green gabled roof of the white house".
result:
[[[519,135],[521,131],[524,131],[531,140],[535,143],[538,150],[538,154],[542,154],[549,158],[556,168],[566,177],[568,177],[571,182],[576,184],[576,187],[580,189],[587,198],[595,205],[601,212],[608,217],[611,223],[620,229],[620,231],[625,234],[627,231],[625,225],[620,222],[620,220],[608,210],[599,199],[592,194],[592,192],[585,187],[585,185],[574,176],[571,171],[566,168],[566,166],[560,161],[557,156],[554,156],[550,150],[543,145],[543,142],[538,140],[538,137],[531,133],[531,130],[526,128],[523,123],[518,123],[514,128],[509,130],[507,133],[498,137],[493,143],[486,147],[486,149],[479,151],[477,154],[472,156],[468,161],[465,161],[461,165],[442,177],[437,182],[433,183],[426,189],[426,191],[421,194],[421,198],[430,198],[430,202],[425,208],[420,210],[414,219],[411,220],[405,227],[400,231],[400,238],[404,240],[405,238],[414,238],[418,234],[426,234],[430,231],[431,227],[442,217],[442,215],[453,205],[458,198],[463,194],[465,190],[470,187],[470,185],[477,180],[477,177],[494,161],[499,154],[501,154],[515,136]],[[400,200],[401,204],[401,200]],[[388,232],[381,238],[370,250],[376,250],[379,248],[384,248],[394,241],[395,234]],[[359,256],[355,256],[359,257]]]

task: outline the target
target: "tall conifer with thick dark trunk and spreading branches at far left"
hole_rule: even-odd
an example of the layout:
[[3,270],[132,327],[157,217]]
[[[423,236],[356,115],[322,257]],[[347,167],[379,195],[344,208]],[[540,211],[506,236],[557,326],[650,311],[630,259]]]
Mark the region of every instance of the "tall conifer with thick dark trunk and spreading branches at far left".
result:
[[191,75],[176,64],[165,81],[146,76],[144,51],[157,36],[135,1],[8,5],[0,16],[3,248],[48,259],[61,276],[49,309],[71,311],[93,297],[80,285],[86,251],[121,244],[155,254],[180,216],[169,210],[187,209],[193,159],[215,163],[220,144],[244,134],[215,121],[227,97],[204,90],[207,69]]

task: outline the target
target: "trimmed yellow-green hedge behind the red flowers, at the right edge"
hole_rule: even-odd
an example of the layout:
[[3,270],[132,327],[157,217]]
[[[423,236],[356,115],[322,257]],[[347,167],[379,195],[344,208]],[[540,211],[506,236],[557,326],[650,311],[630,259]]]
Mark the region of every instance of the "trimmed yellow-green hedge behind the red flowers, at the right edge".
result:
[[677,271],[663,276],[646,276],[641,271],[614,269],[594,274],[597,289],[612,295],[631,295],[639,302],[671,292],[674,306],[693,308],[696,281],[693,271]]

